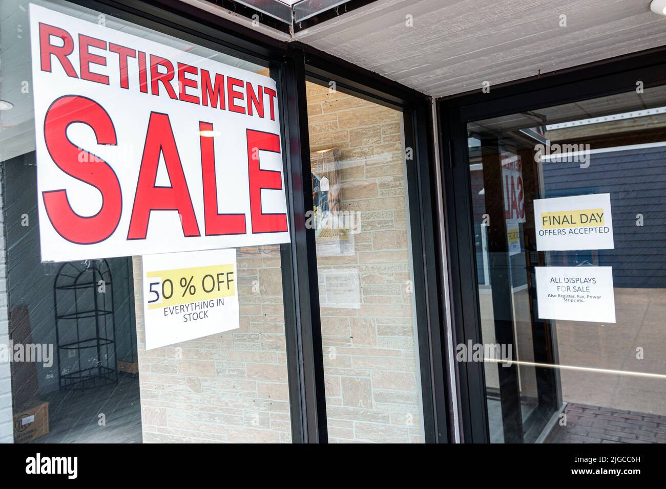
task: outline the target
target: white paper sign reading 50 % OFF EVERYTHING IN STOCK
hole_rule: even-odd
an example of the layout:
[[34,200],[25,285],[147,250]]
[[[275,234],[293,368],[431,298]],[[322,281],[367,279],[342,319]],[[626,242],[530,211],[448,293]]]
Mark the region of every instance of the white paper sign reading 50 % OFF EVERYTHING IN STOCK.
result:
[[144,255],[146,349],[240,327],[236,250]]

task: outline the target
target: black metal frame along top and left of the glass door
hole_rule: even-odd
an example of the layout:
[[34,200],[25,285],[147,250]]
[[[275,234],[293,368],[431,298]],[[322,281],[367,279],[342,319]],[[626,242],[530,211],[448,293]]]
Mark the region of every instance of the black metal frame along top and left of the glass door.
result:
[[[472,222],[466,124],[666,83],[666,47],[650,49],[573,69],[439,98],[440,167],[454,343],[482,343],[476,253]],[[641,82],[641,84],[639,84]],[[460,426],[465,442],[489,442],[486,385],[482,363],[456,363]],[[521,438],[521,437],[519,437]]]

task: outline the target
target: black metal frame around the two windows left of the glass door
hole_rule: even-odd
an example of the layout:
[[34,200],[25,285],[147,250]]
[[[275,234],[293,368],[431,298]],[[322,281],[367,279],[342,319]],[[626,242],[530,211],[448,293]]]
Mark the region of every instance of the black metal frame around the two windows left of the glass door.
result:
[[[280,246],[292,442],[328,442],[314,230],[305,226],[312,209],[306,77],[326,77],[356,96],[404,112],[410,232],[414,260],[418,349],[426,442],[449,442],[452,404],[445,373],[444,299],[436,245],[441,245],[438,203],[432,182],[432,99],[346,61],[298,42],[284,43],[178,0],[68,0],[179,39],[222,50],[270,68],[280,87],[284,175],[292,242]],[[446,369],[448,371],[448,369]]]

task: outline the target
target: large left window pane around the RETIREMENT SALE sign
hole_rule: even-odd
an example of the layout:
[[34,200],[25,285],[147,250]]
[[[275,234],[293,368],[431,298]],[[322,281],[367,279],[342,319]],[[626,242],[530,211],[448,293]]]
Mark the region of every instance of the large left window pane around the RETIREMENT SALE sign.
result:
[[[96,29],[112,29],[165,49],[269,75],[266,66],[71,3],[34,4],[87,21],[91,37]],[[9,354],[0,358],[0,441],[290,442],[280,246],[236,249],[240,328],[146,349],[140,256],[41,261],[29,6],[3,1],[0,21],[0,343]],[[90,53],[102,56],[99,49],[89,47]],[[97,70],[106,66],[99,59],[93,63]],[[79,63],[75,65],[79,69]],[[131,76],[139,72],[129,73],[129,82],[138,84]],[[198,72],[194,67],[188,73],[184,79],[194,79],[192,73]],[[159,83],[162,90],[180,93],[178,103],[184,103],[177,78]],[[191,82],[184,83],[190,94],[196,90]],[[246,88],[220,89],[240,92],[226,100],[240,106],[250,103],[239,101]],[[254,102],[258,111],[259,102]],[[133,107],[111,107],[109,113],[113,117],[118,110],[127,113]],[[280,113],[271,102],[270,108],[268,103],[262,108],[262,116],[279,118]],[[137,131],[145,130],[148,117],[147,112],[133,115]],[[211,112],[206,122],[216,120]],[[223,134],[204,129],[209,128],[199,135],[212,138],[212,147],[221,152]],[[72,128],[67,130],[72,134]],[[176,134],[176,142],[181,137],[186,136]],[[98,154],[105,154],[102,146],[97,146]],[[130,148],[118,155],[138,172],[142,150]],[[180,154],[182,160],[199,162],[200,157],[198,148],[194,155]],[[266,161],[269,168],[281,168],[280,156],[267,160],[262,153],[261,158],[257,171],[266,168]],[[113,159],[108,161],[113,168]],[[214,163],[218,169],[223,164],[219,159]],[[77,184],[74,178],[71,182]],[[224,184],[218,182],[218,187]],[[160,185],[168,187],[169,182]],[[264,188],[275,188],[272,185]],[[223,192],[212,188],[223,202]],[[93,198],[99,200],[99,195]],[[175,213],[163,219],[180,226],[178,217]],[[194,293],[190,283],[182,285]],[[41,356],[19,359],[14,355],[19,346],[36,349]]]

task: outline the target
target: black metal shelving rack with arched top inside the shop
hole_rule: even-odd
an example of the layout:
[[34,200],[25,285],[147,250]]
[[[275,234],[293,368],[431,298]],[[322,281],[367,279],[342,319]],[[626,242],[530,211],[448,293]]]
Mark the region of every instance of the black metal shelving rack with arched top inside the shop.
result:
[[[104,291],[99,291],[98,287],[102,284]],[[93,308],[86,306],[81,310],[83,300],[91,303]],[[115,302],[107,260],[63,263],[53,285],[53,308],[60,389],[83,391],[100,385],[117,384]],[[59,310],[65,312],[59,313]],[[89,319],[94,319],[94,335],[92,323],[87,321]],[[82,323],[87,323],[85,329],[89,332],[82,331]],[[85,336],[82,337],[82,334]],[[83,353],[92,349],[96,354],[82,359]],[[63,371],[61,354],[65,351],[77,352],[77,369]]]

